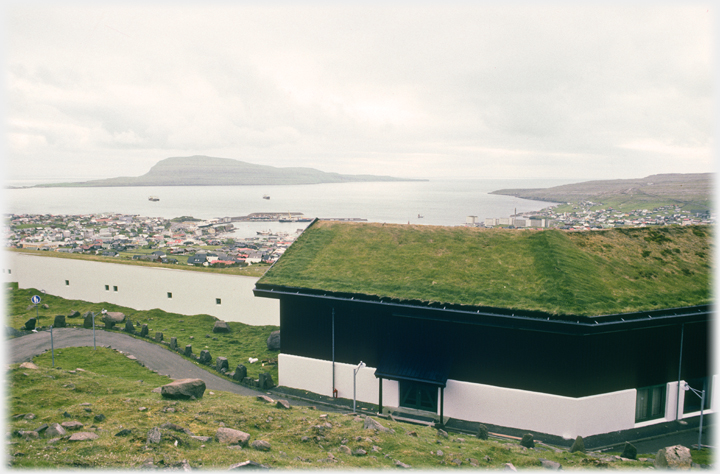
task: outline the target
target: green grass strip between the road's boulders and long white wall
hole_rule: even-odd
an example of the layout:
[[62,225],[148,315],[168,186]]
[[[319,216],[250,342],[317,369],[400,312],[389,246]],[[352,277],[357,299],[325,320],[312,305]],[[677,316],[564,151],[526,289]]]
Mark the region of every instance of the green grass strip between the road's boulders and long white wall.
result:
[[[9,326],[20,329],[25,326],[28,319],[35,317],[36,310],[30,304],[30,298],[35,294],[40,294],[35,288],[17,289],[17,286],[15,286],[15,289],[7,290],[8,316],[6,321]],[[186,344],[192,344],[194,354],[200,354],[201,350],[207,349],[210,351],[213,360],[217,357],[227,357],[231,372],[235,370],[238,364],[244,364],[248,369],[248,377],[256,379],[260,372],[268,372],[272,375],[273,380],[276,382],[278,380],[277,365],[266,364],[263,367],[261,362],[248,363],[249,357],[256,357],[260,361],[277,358],[278,352],[268,351],[266,344],[270,333],[279,329],[277,326],[250,326],[229,321],[228,326],[230,326],[232,332],[215,334],[212,332],[212,328],[217,318],[207,314],[186,316],[168,313],[159,309],[139,311],[110,303],[67,300],[49,294],[43,295],[42,298],[42,303],[49,306],[49,309],[38,308],[37,310],[42,326],[51,325],[55,315],[69,315],[72,311],[79,311],[81,314],[85,314],[87,311],[99,314],[102,309],[120,311],[125,313],[126,317],[136,325],[138,322],[146,323],[150,336],[154,336],[155,332],[162,332],[165,341],[170,341],[171,337],[176,337],[178,346],[181,348],[184,348]],[[83,320],[81,317],[66,318],[66,322],[82,326]],[[96,317],[95,322],[98,327],[103,326],[100,318]],[[124,323],[116,326],[118,330],[122,330],[124,327]],[[137,330],[139,331],[139,328]],[[208,338],[206,335],[210,337]],[[190,339],[190,336],[193,336],[194,339]],[[217,340],[213,340],[213,338]],[[145,340],[153,342],[149,339]],[[197,364],[197,362],[195,363]]]

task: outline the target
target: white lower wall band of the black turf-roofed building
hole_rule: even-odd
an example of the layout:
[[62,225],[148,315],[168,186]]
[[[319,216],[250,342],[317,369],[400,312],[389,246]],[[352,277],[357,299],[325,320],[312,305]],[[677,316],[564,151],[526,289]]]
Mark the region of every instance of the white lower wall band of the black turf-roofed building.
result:
[[[353,398],[355,367],[357,365],[335,363],[335,388],[340,398],[351,400]],[[332,362],[330,361],[280,354],[278,370],[279,385],[332,396]],[[713,377],[713,384],[716,379],[717,376]],[[374,367],[360,369],[356,390],[358,401],[378,403],[378,379],[375,378]],[[681,404],[684,393],[680,392]],[[586,437],[674,420],[677,407],[677,382],[667,384],[665,418],[643,423],[635,423],[637,397],[635,389],[572,398],[448,380],[444,397],[443,414],[446,417],[572,439],[578,435]],[[714,398],[713,395],[713,402]],[[439,403],[438,393],[438,407]],[[398,382],[383,379],[383,406],[398,407],[399,404]],[[712,412],[706,410],[706,413]],[[686,414],[685,417],[695,415],[697,414]]]

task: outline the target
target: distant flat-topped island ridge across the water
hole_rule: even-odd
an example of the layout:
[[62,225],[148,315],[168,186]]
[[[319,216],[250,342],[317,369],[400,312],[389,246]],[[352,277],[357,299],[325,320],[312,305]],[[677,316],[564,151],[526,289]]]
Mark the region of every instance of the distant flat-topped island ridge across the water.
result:
[[391,176],[345,175],[313,168],[276,168],[230,158],[184,156],[159,161],[138,177],[97,179],[78,183],[41,184],[35,187],[114,186],[243,186],[281,184],[353,183],[374,181],[425,181]]

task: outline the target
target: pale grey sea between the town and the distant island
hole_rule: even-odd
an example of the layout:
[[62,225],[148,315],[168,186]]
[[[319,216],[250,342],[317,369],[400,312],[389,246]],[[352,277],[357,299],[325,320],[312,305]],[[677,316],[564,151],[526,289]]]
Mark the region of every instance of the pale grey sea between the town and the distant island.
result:
[[[305,217],[365,219],[395,224],[465,225],[468,216],[508,217],[553,203],[489,194],[508,188],[546,188],[578,182],[563,179],[431,179],[375,183],[274,186],[137,186],[112,188],[6,188],[5,213],[130,214],[198,219],[255,212],[302,213]],[[6,186],[39,183],[6,182]],[[150,201],[150,196],[158,201]],[[269,197],[265,199],[264,197]],[[231,237],[257,232],[292,234],[307,223],[235,222]]]

